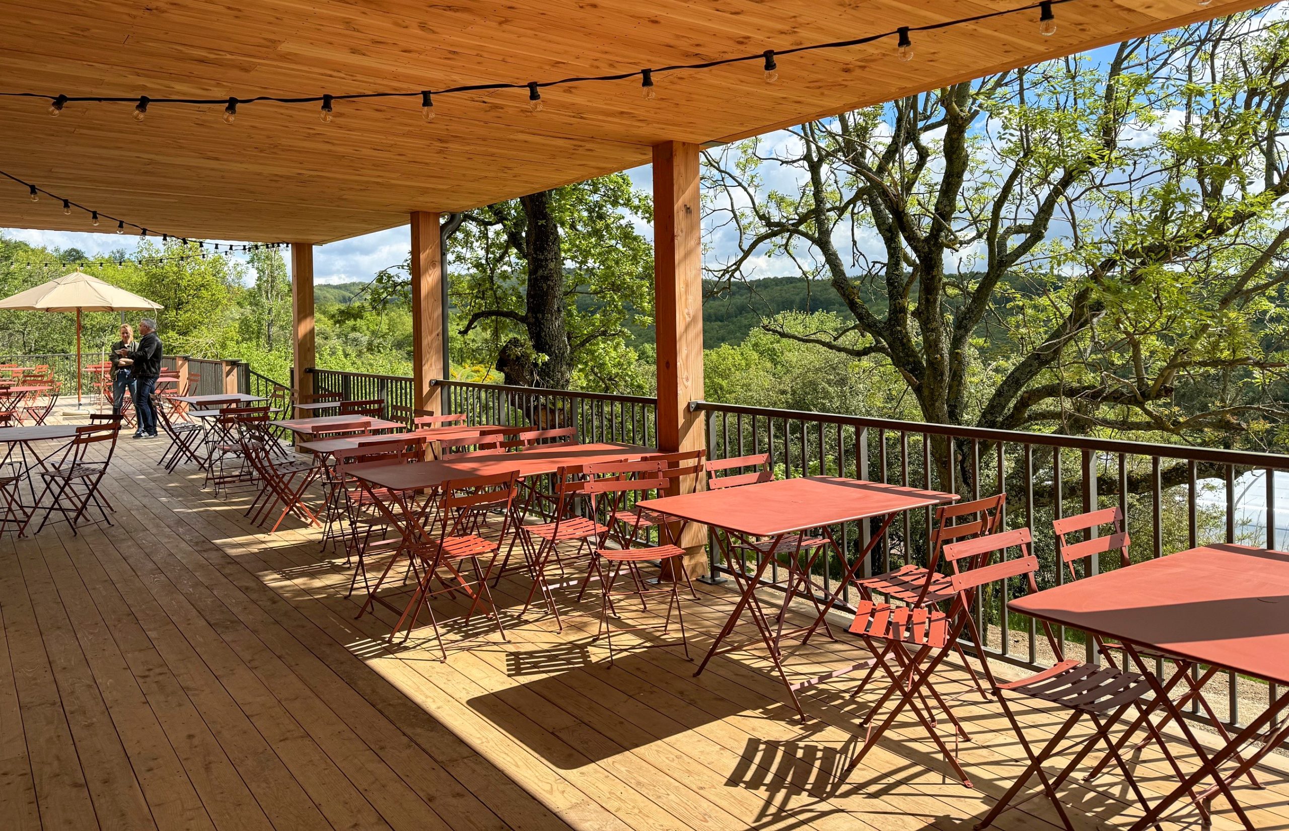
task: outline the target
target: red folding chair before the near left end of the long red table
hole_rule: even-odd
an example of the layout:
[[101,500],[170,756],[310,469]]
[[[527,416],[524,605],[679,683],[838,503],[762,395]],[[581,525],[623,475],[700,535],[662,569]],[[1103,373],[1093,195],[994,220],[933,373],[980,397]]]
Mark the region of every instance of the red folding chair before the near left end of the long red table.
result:
[[[496,558],[499,542],[481,536],[476,530],[486,523],[486,517],[494,505],[503,502],[505,510],[501,517],[500,539],[505,539],[507,530],[512,519],[510,508],[514,504],[517,472],[499,473],[486,477],[472,477],[445,482],[438,499],[437,533],[433,527],[427,528],[422,517],[424,513],[410,506],[405,495],[393,493],[392,499],[379,501],[378,505],[393,522],[400,522],[411,539],[410,554],[420,560],[422,573],[407,607],[389,633],[389,640],[407,624],[407,633],[403,640],[411,636],[411,630],[416,627],[422,612],[429,613],[431,626],[434,629],[434,639],[443,660],[447,660],[447,649],[443,645],[443,636],[438,629],[438,620],[431,607],[431,599],[447,594],[464,594],[469,600],[469,609],[464,620],[468,621],[481,606],[485,612],[496,622],[496,631],[507,640],[505,627],[501,625],[501,615],[492,602],[492,593],[489,589],[489,569]],[[391,504],[397,506],[398,514],[391,510]],[[401,519],[400,519],[401,515]],[[483,566],[487,560],[489,566]],[[473,571],[470,576],[467,571],[469,566]],[[388,573],[389,568],[385,568]],[[384,580],[384,575],[382,575]],[[440,589],[433,589],[434,582]],[[379,590],[379,584],[376,586]]]

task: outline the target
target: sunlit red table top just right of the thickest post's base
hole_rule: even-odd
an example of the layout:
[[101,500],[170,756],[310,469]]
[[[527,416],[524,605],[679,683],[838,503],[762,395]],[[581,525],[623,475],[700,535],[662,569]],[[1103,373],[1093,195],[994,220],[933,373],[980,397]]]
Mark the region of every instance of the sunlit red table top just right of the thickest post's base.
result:
[[639,502],[669,517],[757,537],[945,505],[956,493],[838,477],[798,477]]

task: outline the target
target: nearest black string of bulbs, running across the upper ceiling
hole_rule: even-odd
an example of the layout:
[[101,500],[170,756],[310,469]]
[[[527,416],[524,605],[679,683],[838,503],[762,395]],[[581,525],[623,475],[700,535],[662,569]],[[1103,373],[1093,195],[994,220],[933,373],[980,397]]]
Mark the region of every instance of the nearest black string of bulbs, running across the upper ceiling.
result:
[[[878,32],[878,33],[874,33],[874,35],[866,35],[864,37],[852,37],[849,40],[839,40],[839,41],[821,43],[821,44],[807,44],[807,45],[803,45],[803,46],[791,46],[791,48],[788,48],[788,49],[780,49],[777,52],[773,50],[773,49],[767,49],[767,50],[759,52],[759,53],[745,54],[745,55],[733,55],[733,57],[730,57],[730,58],[718,58],[715,61],[704,61],[704,62],[697,62],[697,63],[677,63],[677,64],[670,64],[670,66],[650,67],[647,70],[635,70],[635,71],[632,71],[632,72],[617,72],[617,73],[611,73],[611,75],[575,76],[575,77],[565,77],[565,79],[557,79],[557,80],[550,80],[550,81],[528,81],[528,82],[525,82],[525,84],[516,84],[516,82],[509,82],[509,81],[499,81],[499,82],[485,82],[485,84],[463,84],[463,85],[459,85],[459,86],[449,86],[449,88],[437,89],[437,90],[367,91],[367,93],[348,93],[348,94],[344,94],[344,95],[325,94],[325,95],[303,95],[303,97],[290,97],[290,98],[276,97],[276,95],[257,95],[257,97],[251,97],[251,98],[240,98],[240,99],[233,99],[233,98],[228,98],[228,99],[224,99],[224,98],[159,98],[159,99],[148,99],[144,95],[144,97],[141,97],[138,99],[138,104],[134,108],[134,117],[142,121],[143,120],[143,113],[147,111],[147,104],[148,103],[153,103],[153,104],[161,103],[161,104],[215,106],[215,104],[223,104],[223,103],[232,102],[232,100],[237,100],[237,103],[246,103],[246,102],[275,102],[275,103],[280,103],[280,104],[303,104],[303,103],[317,103],[317,102],[321,102],[321,104],[322,104],[321,113],[320,113],[321,119],[322,119],[324,122],[330,122],[331,121],[331,116],[334,113],[334,102],[335,102],[335,99],[345,100],[345,99],[367,99],[367,98],[414,98],[414,97],[419,95],[420,99],[422,99],[422,112],[423,112],[423,116],[428,121],[432,117],[432,113],[431,112],[425,112],[429,108],[429,106],[431,106],[431,104],[427,104],[425,102],[429,100],[429,98],[431,98],[432,94],[433,95],[467,94],[467,95],[477,97],[477,94],[481,93],[481,91],[489,91],[489,90],[522,90],[525,88],[528,89],[528,108],[531,111],[534,111],[534,112],[539,112],[541,110],[541,107],[540,107],[540,104],[538,102],[540,102],[541,95],[540,95],[540,93],[535,93],[534,91],[534,89],[538,88],[538,86],[559,86],[559,85],[565,85],[565,84],[588,84],[588,82],[611,82],[611,81],[621,81],[621,80],[625,80],[625,79],[639,77],[641,79],[642,94],[646,98],[648,98],[648,88],[652,86],[652,73],[655,73],[655,72],[681,72],[681,71],[710,70],[710,68],[715,68],[715,67],[731,66],[731,64],[736,64],[736,63],[746,63],[746,62],[751,62],[751,61],[764,61],[764,63],[766,63],[766,66],[764,66],[766,80],[768,82],[773,82],[771,79],[775,77],[776,73],[777,73],[777,58],[782,58],[785,55],[793,55],[793,54],[797,54],[797,53],[806,53],[806,52],[815,52],[815,50],[824,50],[824,49],[848,49],[848,48],[853,48],[853,46],[861,46],[861,45],[865,45],[865,44],[877,43],[877,41],[886,40],[886,39],[893,36],[893,37],[898,39],[897,49],[898,49],[900,58],[902,61],[911,61],[913,59],[911,32],[931,32],[931,31],[937,31],[937,30],[941,30],[941,28],[949,28],[949,27],[953,27],[953,26],[963,26],[963,24],[971,24],[971,23],[980,23],[981,21],[989,21],[989,19],[993,19],[993,18],[999,18],[999,17],[1004,17],[1004,15],[1009,15],[1009,14],[1020,14],[1020,13],[1032,12],[1032,10],[1040,10],[1040,18],[1039,18],[1040,19],[1040,31],[1043,32],[1043,35],[1051,35],[1052,32],[1048,31],[1048,28],[1049,28],[1049,24],[1054,26],[1054,17],[1049,18],[1049,9],[1052,6],[1056,6],[1056,5],[1062,4],[1062,3],[1075,3],[1075,1],[1076,0],[1035,0],[1035,1],[1029,3],[1026,5],[1016,6],[1016,8],[1012,8],[1012,9],[998,9],[998,10],[994,10],[994,12],[982,12],[980,14],[973,14],[971,17],[963,17],[963,18],[956,18],[956,19],[951,19],[951,21],[941,21],[938,23],[924,23],[922,26],[901,26],[901,27],[896,28],[895,31]],[[1196,3],[1199,5],[1201,5],[1201,6],[1207,6],[1207,5],[1209,5],[1209,3],[1212,3],[1212,0],[1196,0]],[[1054,28],[1052,28],[1052,31],[1054,31]],[[122,102],[124,103],[124,102],[133,102],[133,100],[135,100],[134,98],[98,97],[98,95],[72,95],[72,97],[68,97],[68,95],[63,95],[63,94],[52,95],[52,94],[45,94],[45,93],[0,93],[0,97],[40,98],[40,99],[49,100],[50,102],[50,113],[52,115],[57,115],[57,111],[62,110],[62,107],[57,106],[57,104],[64,104],[64,103],[68,103],[68,102],[95,102],[95,103]],[[228,107],[226,107],[226,115],[228,115]]]

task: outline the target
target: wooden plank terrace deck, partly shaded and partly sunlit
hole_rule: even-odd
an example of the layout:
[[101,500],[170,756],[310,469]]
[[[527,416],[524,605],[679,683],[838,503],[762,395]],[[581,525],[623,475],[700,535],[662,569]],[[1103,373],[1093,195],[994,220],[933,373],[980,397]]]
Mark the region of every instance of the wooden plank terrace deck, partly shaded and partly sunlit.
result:
[[[449,626],[446,664],[415,638],[389,648],[392,616],[354,620],[351,572],[316,530],[260,532],[246,496],[157,468],[164,447],[121,441],[113,527],[0,537],[0,827],[969,828],[1021,769],[996,705],[964,693],[974,790],[911,718],[839,783],[871,698],[847,702],[855,680],[809,691],[802,725],[757,653],[693,678],[678,648],[633,651],[624,635],[610,667],[594,618],[557,634],[512,617],[508,644],[468,651]],[[505,580],[499,602],[513,612],[526,591]],[[699,593],[684,607],[696,656],[733,599]],[[789,666],[815,674],[861,653],[817,639]],[[964,692],[954,675],[946,691]],[[1035,734],[1058,718],[1023,711]],[[1143,786],[1168,788],[1158,758],[1139,764]],[[1263,778],[1272,787],[1239,788],[1250,816],[1289,828],[1285,772]],[[1115,777],[1096,787],[1065,788],[1080,828],[1139,816]],[[1237,827],[1216,807],[1214,827]],[[1191,809],[1165,825],[1191,826]],[[996,827],[1058,826],[1039,796]]]

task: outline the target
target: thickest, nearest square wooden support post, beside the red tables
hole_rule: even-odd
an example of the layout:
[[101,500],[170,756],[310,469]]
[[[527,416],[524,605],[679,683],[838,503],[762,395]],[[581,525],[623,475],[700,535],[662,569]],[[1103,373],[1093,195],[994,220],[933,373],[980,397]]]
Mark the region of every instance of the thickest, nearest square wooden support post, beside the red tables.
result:
[[[657,343],[657,447],[706,447],[706,420],[691,412],[703,398],[703,247],[699,146],[654,146],[654,307]],[[701,487],[703,477],[673,482],[672,493]],[[706,528],[691,526],[681,545],[691,576],[706,573]]]

